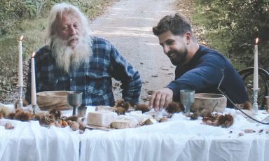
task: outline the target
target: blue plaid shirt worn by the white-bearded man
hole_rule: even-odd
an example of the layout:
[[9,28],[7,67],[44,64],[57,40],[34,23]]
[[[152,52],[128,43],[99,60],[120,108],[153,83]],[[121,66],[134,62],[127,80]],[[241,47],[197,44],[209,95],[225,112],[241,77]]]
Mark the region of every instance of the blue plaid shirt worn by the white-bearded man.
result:
[[[138,71],[126,62],[116,48],[102,38],[92,36],[90,63],[82,64],[76,71],[65,73],[55,64],[48,46],[34,56],[36,92],[50,90],[78,90],[83,92],[82,106],[113,106],[111,78],[120,80],[123,99],[137,104],[142,82]],[[31,102],[31,63],[29,64],[26,99]]]

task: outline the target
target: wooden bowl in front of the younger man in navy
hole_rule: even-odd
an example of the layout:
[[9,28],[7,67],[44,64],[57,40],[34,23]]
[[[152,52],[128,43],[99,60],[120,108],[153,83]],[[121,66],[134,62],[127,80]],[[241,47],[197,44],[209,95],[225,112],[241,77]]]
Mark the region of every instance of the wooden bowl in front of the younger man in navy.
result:
[[199,116],[206,116],[212,112],[224,112],[227,106],[227,98],[222,94],[197,93],[191,111]]

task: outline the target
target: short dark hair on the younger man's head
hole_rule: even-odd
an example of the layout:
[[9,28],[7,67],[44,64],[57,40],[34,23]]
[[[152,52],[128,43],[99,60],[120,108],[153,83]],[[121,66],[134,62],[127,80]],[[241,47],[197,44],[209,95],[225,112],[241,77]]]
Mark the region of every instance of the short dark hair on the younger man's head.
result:
[[191,23],[183,15],[166,15],[163,17],[156,27],[153,27],[153,33],[156,36],[163,34],[165,31],[171,31],[174,35],[183,36],[191,31]]

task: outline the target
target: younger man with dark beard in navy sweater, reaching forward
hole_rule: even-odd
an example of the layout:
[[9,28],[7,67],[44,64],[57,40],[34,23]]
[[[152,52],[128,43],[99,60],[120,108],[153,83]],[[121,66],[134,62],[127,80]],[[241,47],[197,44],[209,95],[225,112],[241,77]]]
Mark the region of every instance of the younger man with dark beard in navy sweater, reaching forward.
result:
[[[172,101],[179,102],[180,90],[220,93],[219,83],[220,90],[235,104],[249,100],[244,82],[233,65],[219,52],[199,45],[193,37],[191,24],[184,16],[165,16],[153,27],[153,33],[158,36],[165,55],[177,67],[175,79],[151,95],[151,108],[159,111],[167,108]],[[227,103],[228,106],[233,106],[231,102]]]

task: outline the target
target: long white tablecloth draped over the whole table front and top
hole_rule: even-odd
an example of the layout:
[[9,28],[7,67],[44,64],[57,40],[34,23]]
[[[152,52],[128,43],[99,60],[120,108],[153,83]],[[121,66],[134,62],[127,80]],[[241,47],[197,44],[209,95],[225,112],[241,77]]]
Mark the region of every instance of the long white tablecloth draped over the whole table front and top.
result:
[[[250,123],[233,109],[226,113],[235,120],[229,128],[176,113],[165,123],[109,132],[86,129],[83,134],[1,119],[1,125],[12,121],[15,128],[0,127],[0,160],[269,160],[269,125]],[[260,111],[260,116],[268,114]]]

